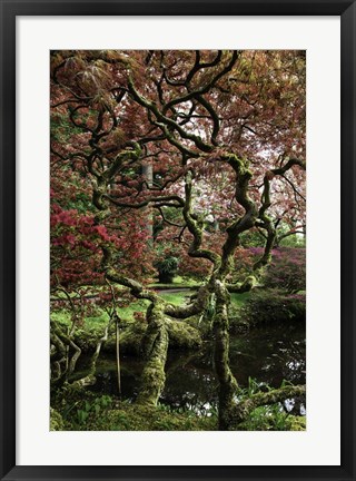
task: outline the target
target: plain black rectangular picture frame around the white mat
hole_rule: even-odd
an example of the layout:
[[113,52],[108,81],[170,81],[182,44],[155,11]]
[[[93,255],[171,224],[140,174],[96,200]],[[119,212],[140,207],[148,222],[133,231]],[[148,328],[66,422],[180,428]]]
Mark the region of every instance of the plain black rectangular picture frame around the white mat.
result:
[[[1,480],[355,480],[355,0],[0,0],[0,477]],[[342,463],[339,467],[26,467],[16,464],[16,18],[17,16],[340,16]],[[333,59],[330,59],[333,62]],[[327,422],[327,420],[326,420]]]

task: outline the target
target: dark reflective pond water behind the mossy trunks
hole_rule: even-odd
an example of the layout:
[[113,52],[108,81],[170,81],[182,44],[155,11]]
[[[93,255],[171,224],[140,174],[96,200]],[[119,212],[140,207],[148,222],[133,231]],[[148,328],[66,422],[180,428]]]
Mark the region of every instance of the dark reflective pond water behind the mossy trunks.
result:
[[[280,386],[283,380],[306,382],[306,343],[303,324],[258,327],[230,336],[230,367],[241,386],[249,377],[258,383]],[[217,380],[214,373],[212,344],[199,352],[170,352],[167,381],[160,402],[206,414],[217,404]],[[135,400],[144,362],[121,359],[121,399]],[[116,360],[101,357],[97,365],[96,392],[118,395]]]

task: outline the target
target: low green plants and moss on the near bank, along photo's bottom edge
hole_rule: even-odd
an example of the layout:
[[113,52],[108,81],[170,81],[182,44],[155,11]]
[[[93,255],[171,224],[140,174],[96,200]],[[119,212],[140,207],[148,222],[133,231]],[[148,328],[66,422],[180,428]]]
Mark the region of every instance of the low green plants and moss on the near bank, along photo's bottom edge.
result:
[[[52,431],[216,431],[216,414],[197,416],[167,405],[139,405],[66,385],[51,396]],[[260,406],[237,426],[241,431],[305,431],[306,418],[280,404]]]

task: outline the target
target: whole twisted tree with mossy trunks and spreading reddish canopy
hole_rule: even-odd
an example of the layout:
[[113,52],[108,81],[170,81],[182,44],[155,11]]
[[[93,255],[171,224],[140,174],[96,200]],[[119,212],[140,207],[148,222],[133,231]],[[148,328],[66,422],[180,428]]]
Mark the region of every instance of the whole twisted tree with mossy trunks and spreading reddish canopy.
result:
[[[229,293],[306,232],[305,89],[305,51],[51,51],[51,288],[97,286],[118,318],[118,293],[149,301],[138,404],[164,389],[170,323],[207,311],[219,428],[271,402],[237,402]],[[178,264],[200,283],[184,306],[150,287]]]

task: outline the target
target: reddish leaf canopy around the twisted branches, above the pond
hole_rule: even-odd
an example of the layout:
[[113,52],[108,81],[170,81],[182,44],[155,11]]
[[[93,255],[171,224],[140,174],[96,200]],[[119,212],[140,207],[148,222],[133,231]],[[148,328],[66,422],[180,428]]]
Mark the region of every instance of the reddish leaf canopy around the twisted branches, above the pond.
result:
[[[148,282],[157,256],[172,254],[180,258],[181,275],[207,277],[210,263],[189,254],[192,235],[184,229],[181,206],[160,205],[159,198],[185,198],[184,176],[192,171],[200,248],[221,254],[226,229],[245,213],[236,171],[221,160],[226,153],[249,160],[248,194],[257,208],[266,178],[268,215],[290,228],[305,224],[305,171],[298,166],[284,176],[271,171],[290,157],[305,158],[305,55],[241,51],[220,75],[231,58],[229,51],[210,50],[52,53],[53,285],[102,283],[103,245],[113,247],[115,267],[130,277]],[[140,145],[139,158],[120,164],[132,141]],[[144,175],[147,165],[151,179]],[[100,183],[107,196],[102,215],[92,203]],[[146,205],[152,197],[155,214]],[[152,239],[157,218],[161,232]],[[233,277],[239,277],[250,268],[249,251],[238,248],[234,262]]]

